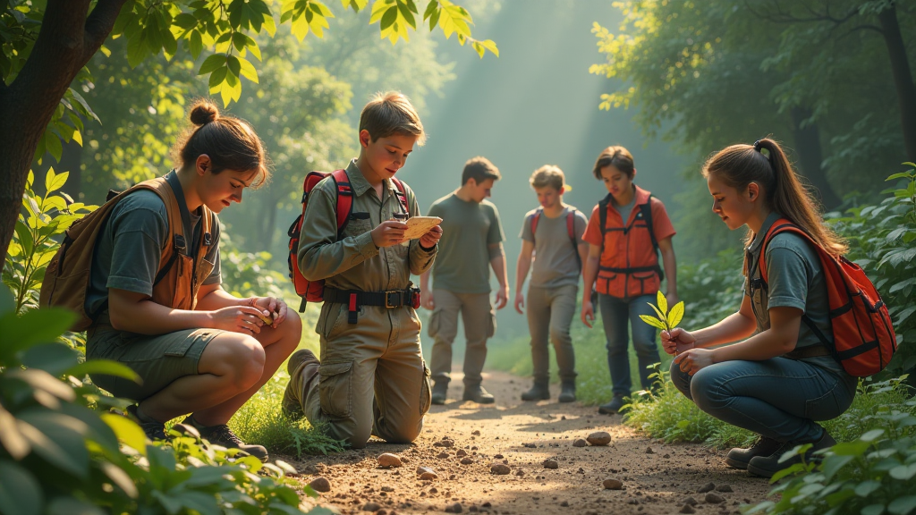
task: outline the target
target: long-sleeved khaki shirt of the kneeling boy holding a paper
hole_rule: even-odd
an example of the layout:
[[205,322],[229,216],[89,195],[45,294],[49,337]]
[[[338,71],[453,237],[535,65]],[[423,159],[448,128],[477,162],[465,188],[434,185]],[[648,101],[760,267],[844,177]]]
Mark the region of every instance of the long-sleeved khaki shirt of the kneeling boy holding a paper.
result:
[[[299,266],[309,280],[326,279],[325,286],[339,290],[387,291],[408,287],[410,274],[420,275],[432,266],[438,246],[423,250],[420,240],[409,246],[378,248],[370,231],[394,214],[402,213],[397,186],[385,181],[382,199],[351,161],[346,169],[353,188],[353,214],[340,241],[337,240],[337,192],[332,178],[319,182],[310,194],[302,221],[299,244]],[[410,216],[420,214],[417,197],[407,189]]]

